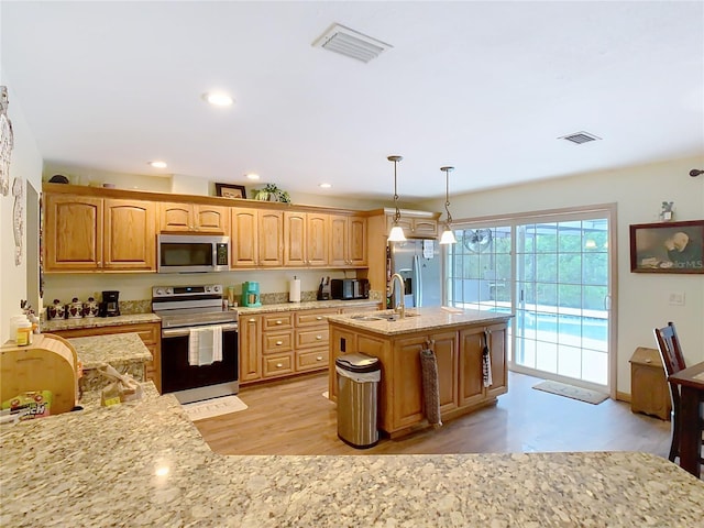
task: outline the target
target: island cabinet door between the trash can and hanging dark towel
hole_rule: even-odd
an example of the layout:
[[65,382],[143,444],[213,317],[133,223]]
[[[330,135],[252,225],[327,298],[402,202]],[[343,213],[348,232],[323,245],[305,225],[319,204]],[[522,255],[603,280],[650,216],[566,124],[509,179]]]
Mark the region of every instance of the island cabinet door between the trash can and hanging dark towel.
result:
[[420,351],[426,341],[426,337],[415,337],[394,343],[393,430],[414,426],[425,418]]

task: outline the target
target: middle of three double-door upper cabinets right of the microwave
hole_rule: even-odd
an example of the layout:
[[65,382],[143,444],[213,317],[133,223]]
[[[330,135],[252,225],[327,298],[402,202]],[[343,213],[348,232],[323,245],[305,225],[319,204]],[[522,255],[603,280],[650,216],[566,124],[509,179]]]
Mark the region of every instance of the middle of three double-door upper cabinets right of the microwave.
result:
[[328,265],[329,216],[284,212],[284,265]]

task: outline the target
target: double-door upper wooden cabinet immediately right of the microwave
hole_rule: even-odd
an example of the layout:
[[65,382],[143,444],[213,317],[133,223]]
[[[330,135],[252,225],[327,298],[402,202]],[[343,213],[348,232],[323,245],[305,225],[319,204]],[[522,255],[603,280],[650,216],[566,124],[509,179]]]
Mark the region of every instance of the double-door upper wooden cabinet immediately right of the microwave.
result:
[[284,213],[232,208],[232,267],[278,267],[284,264]]

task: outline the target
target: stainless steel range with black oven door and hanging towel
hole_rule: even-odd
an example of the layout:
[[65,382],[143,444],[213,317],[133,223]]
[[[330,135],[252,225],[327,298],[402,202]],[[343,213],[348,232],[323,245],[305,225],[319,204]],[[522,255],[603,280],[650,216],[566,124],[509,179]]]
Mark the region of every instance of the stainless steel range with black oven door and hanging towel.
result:
[[[155,286],[152,311],[162,319],[162,392],[182,404],[239,392],[238,312],[222,309],[221,284]],[[194,334],[222,334],[222,360],[202,364]],[[212,338],[211,338],[212,339]]]

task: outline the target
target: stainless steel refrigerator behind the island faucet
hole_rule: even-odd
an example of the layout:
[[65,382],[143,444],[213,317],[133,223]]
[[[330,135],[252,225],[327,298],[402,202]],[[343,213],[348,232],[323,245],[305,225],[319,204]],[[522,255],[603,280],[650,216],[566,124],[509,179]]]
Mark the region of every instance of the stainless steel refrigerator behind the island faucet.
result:
[[[404,278],[406,308],[442,305],[442,264],[437,240],[416,239],[388,243],[387,280],[394,273]],[[387,284],[387,288],[391,283]],[[391,307],[399,302],[398,283]]]

